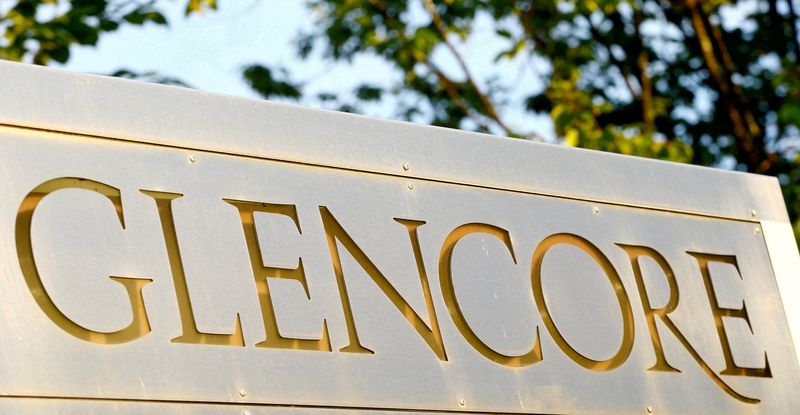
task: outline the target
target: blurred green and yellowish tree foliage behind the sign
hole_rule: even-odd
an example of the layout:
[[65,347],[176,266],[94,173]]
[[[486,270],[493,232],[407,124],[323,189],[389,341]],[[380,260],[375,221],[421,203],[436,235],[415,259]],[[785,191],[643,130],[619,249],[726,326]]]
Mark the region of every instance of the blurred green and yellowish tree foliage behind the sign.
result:
[[[20,1],[17,7],[23,3],[48,2]],[[102,13],[99,6],[82,12],[96,17],[93,27],[99,32],[107,31],[104,21],[113,30],[109,21],[164,20],[153,2],[118,12],[108,2],[74,1],[70,10],[86,3],[103,5]],[[189,11],[192,4],[215,6],[189,3]],[[319,100],[357,111],[391,96],[399,118],[535,139],[524,125],[506,119],[509,96],[524,94],[527,110],[549,114],[557,140],[567,145],[778,177],[800,239],[800,42],[792,0],[307,0],[307,5],[317,21],[312,32],[298,37],[301,57],[377,56],[402,75],[395,85],[360,85],[354,98],[325,93]],[[128,10],[138,14],[128,18]],[[7,16],[0,17],[0,27],[9,25]],[[41,26],[61,28],[61,19]],[[491,22],[503,45],[483,58],[535,70],[543,88],[520,91],[502,73],[478,75],[471,66],[475,60],[466,56],[481,21]],[[72,43],[55,48],[42,43],[49,41],[46,36],[34,38],[56,60],[68,57],[64,45],[96,41],[80,30],[68,32]],[[19,59],[25,50],[11,39],[0,44],[0,57]],[[452,63],[444,64],[443,57]],[[300,98],[302,83],[290,73],[252,64],[243,77],[264,97]]]

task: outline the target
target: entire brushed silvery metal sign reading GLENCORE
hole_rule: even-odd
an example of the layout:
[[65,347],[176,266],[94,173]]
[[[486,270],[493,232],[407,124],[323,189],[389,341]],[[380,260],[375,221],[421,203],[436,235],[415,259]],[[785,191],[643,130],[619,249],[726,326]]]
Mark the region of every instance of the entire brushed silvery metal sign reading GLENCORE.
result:
[[[499,139],[477,135],[431,145],[420,135],[456,133],[5,65],[39,90],[166,103],[15,113],[13,88],[0,103],[3,412],[800,407],[797,250],[766,178],[529,143],[492,153]],[[190,98],[272,129],[212,122],[211,146],[180,127],[189,110],[157,115]],[[47,114],[61,123],[34,120]],[[353,161],[381,127],[408,134],[381,144],[411,149]],[[276,133],[291,129],[308,141]],[[328,162],[315,131],[341,134]],[[258,137],[291,145],[242,150]],[[558,170],[538,164],[552,152]],[[448,161],[471,157],[482,181]],[[519,176],[495,181],[504,169]]]

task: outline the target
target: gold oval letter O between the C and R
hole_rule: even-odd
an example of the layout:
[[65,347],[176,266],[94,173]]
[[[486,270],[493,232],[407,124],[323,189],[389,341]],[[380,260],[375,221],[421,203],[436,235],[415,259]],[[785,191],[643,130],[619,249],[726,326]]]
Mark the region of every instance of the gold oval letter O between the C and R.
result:
[[[620,344],[617,353],[606,360],[594,360],[575,350],[569,343],[567,343],[567,341],[561,335],[561,332],[558,331],[558,327],[556,327],[552,317],[550,316],[550,311],[547,309],[544,292],[542,291],[542,263],[544,262],[544,256],[547,251],[549,251],[550,248],[560,244],[572,245],[589,255],[589,257],[591,257],[595,263],[597,263],[597,265],[600,265],[600,268],[606,274],[606,278],[608,278],[608,281],[614,288],[614,293],[616,294],[617,301],[619,302],[620,313],[622,314],[622,343]],[[631,303],[628,299],[628,294],[625,292],[625,287],[622,285],[622,279],[619,277],[617,270],[614,269],[611,261],[608,260],[605,254],[603,254],[598,247],[578,235],[570,233],[550,235],[545,238],[539,244],[539,246],[536,247],[536,250],[533,253],[533,261],[531,263],[531,279],[533,281],[533,297],[536,301],[536,307],[538,307],[539,313],[542,315],[544,325],[547,327],[550,335],[553,336],[553,340],[555,340],[558,347],[561,348],[561,350],[566,353],[566,355],[569,356],[572,361],[585,367],[586,369],[598,372],[609,371],[625,363],[625,361],[628,359],[628,356],[631,354],[631,350],[633,349],[634,326]]]

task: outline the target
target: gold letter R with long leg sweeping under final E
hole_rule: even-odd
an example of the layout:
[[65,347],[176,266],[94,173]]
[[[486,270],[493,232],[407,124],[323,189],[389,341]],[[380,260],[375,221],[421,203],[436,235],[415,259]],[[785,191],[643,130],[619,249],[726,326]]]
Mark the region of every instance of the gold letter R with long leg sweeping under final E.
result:
[[[661,345],[661,337],[658,334],[658,328],[655,324],[655,317],[658,317],[661,322],[666,326],[672,335],[675,336],[676,339],[683,345],[687,352],[694,358],[695,362],[700,365],[700,368],[703,369],[703,372],[711,378],[711,380],[717,384],[725,393],[730,395],[731,397],[745,402],[745,403],[758,403],[761,402],[759,399],[750,398],[748,396],[744,396],[739,392],[735,391],[730,385],[725,383],[722,378],[714,372],[713,369],[708,365],[708,363],[703,360],[700,356],[700,353],[695,350],[695,348],[689,343],[689,340],[683,333],[678,330],[678,327],[669,317],[669,314],[675,311],[678,307],[679,301],[679,292],[678,292],[678,282],[675,279],[675,274],[672,271],[672,267],[670,267],[667,260],[656,250],[646,247],[646,246],[638,246],[638,245],[625,245],[625,244],[617,244],[620,248],[625,250],[625,252],[630,257],[631,267],[633,268],[633,275],[636,278],[636,286],[639,290],[639,298],[642,301],[642,308],[644,308],[645,316],[647,318],[647,325],[650,329],[650,339],[653,342],[653,349],[656,353],[656,363],[648,370],[655,370],[655,371],[665,371],[665,372],[680,372],[680,370],[676,369],[672,365],[667,362],[667,359],[664,355],[664,349]],[[664,277],[667,279],[667,283],[669,284],[669,300],[667,301],[667,305],[662,308],[653,308],[650,304],[650,299],[647,294],[647,289],[644,285],[644,278],[642,277],[642,269],[641,264],[639,262],[639,258],[645,256],[653,259],[656,261],[661,270],[664,273]]]

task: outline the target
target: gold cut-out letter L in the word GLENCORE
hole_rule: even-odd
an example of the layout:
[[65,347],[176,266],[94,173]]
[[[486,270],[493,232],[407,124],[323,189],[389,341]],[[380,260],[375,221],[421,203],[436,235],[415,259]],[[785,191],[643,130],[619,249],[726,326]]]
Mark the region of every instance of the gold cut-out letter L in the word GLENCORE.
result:
[[192,300],[189,297],[189,286],[186,283],[186,273],[183,269],[178,235],[175,231],[175,219],[172,215],[172,201],[183,197],[179,193],[158,192],[154,190],[140,190],[155,200],[158,208],[158,217],[161,221],[161,231],[164,234],[164,244],[167,248],[169,267],[172,271],[172,282],[175,286],[175,296],[178,301],[178,311],[181,316],[183,334],[172,339],[173,343],[211,344],[223,346],[244,346],[242,336],[242,323],[239,313],[236,313],[236,328],[232,334],[204,333],[197,328],[194,318]]

